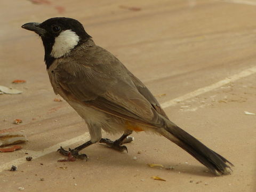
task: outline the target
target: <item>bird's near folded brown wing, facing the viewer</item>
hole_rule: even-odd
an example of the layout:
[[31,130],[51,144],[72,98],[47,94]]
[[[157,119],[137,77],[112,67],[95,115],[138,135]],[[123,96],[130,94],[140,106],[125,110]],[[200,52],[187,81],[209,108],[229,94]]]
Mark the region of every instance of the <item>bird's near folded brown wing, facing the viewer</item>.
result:
[[148,98],[153,95],[147,91],[144,96],[137,89],[129,70],[114,55],[102,49],[86,59],[62,63],[55,70],[56,80],[69,98],[129,121],[153,127],[164,125],[154,108],[158,102],[153,99],[151,105]]

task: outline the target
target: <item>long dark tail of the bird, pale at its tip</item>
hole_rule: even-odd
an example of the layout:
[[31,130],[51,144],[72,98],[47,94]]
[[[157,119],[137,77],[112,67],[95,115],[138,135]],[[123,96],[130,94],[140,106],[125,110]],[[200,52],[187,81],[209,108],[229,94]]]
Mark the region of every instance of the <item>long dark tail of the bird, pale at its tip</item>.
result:
[[167,121],[167,127],[161,129],[159,133],[186,150],[216,175],[231,174],[232,170],[229,165],[234,166],[232,163],[172,122]]

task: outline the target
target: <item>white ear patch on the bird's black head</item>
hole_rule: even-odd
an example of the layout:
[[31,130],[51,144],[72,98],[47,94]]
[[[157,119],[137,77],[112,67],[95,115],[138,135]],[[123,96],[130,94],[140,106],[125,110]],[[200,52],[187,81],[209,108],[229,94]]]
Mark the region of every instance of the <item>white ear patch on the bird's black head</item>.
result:
[[55,37],[54,45],[52,46],[51,56],[55,59],[69,53],[79,41],[79,36],[74,31],[65,30]]

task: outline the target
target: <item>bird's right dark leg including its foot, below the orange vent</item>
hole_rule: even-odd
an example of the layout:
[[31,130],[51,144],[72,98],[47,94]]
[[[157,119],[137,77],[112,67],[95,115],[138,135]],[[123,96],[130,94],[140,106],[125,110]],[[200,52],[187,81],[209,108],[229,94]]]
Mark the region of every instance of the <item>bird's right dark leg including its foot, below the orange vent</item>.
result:
[[133,137],[129,136],[132,133],[132,131],[127,131],[125,132],[119,139],[115,141],[111,141],[110,139],[107,138],[102,138],[99,142],[100,143],[106,143],[109,147],[118,150],[118,151],[124,151],[127,150],[126,146],[121,146],[123,143],[129,143],[133,141]]

